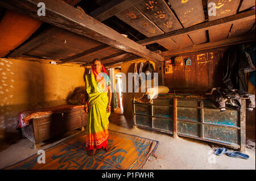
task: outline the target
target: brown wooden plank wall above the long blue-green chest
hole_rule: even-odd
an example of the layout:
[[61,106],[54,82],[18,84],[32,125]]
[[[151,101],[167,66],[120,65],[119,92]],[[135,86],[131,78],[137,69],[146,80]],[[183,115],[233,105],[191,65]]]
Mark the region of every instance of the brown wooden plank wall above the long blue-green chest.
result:
[[[170,92],[205,93],[210,87],[222,87],[223,56],[228,48],[209,49],[181,54],[182,66],[173,66],[173,73],[164,74],[164,85]],[[170,57],[172,61],[176,56]],[[185,65],[187,58],[191,65]]]

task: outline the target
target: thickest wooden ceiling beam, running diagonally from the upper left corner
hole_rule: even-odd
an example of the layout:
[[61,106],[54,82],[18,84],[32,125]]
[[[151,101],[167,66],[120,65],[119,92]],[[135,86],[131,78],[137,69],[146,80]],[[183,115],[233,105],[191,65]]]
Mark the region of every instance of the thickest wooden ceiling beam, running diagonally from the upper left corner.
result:
[[135,41],[122,36],[120,33],[112,30],[112,28],[98,22],[98,20],[82,13],[80,10],[75,9],[63,1],[44,0],[46,16],[38,16],[37,6],[39,2],[41,0],[6,0],[0,1],[0,6],[100,41],[114,48],[136,54],[139,57],[152,61],[163,61],[163,57],[159,54],[151,52],[142,45],[135,43]]

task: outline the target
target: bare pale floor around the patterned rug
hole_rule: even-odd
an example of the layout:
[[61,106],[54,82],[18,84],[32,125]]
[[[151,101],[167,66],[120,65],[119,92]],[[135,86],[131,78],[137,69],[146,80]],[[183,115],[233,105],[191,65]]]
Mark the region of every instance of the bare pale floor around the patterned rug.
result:
[[[255,170],[255,150],[246,148],[246,154],[250,156],[250,159],[231,158],[228,155],[217,156],[214,154],[213,144],[209,142],[192,140],[185,137],[173,138],[171,134],[134,128],[132,120],[128,121],[125,116],[118,113],[112,113],[109,120],[109,129],[112,131],[134,134],[159,141],[155,155],[151,155],[148,158],[142,169]],[[41,149],[46,149],[78,133],[80,131],[76,130],[65,134],[59,140],[44,142]],[[215,146],[220,147],[220,145]],[[229,150],[232,151],[232,149]],[[19,139],[16,140],[15,144],[3,146],[0,151],[0,169],[26,159],[36,154],[37,151],[38,149],[34,149],[32,142],[27,139]]]

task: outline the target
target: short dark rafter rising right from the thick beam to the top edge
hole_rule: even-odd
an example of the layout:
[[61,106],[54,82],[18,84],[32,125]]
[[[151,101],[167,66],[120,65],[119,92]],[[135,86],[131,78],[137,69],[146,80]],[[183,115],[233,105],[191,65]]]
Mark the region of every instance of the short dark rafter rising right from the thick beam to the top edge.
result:
[[136,5],[142,0],[112,0],[105,5],[99,7],[98,9],[91,12],[89,15],[98,21],[102,22],[111,16],[126,10],[128,7]]

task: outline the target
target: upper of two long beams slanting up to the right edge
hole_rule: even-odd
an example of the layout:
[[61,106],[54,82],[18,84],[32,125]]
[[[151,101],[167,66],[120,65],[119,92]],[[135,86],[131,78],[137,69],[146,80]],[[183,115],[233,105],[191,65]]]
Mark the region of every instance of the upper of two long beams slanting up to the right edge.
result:
[[168,33],[165,33],[163,35],[149,37],[147,39],[137,41],[137,43],[141,44],[141,45],[148,45],[148,44],[156,43],[156,41],[158,41],[160,39],[165,39],[167,37],[174,37],[174,36],[177,36],[177,35],[179,35],[179,36],[187,35],[188,33],[205,31],[205,30],[209,30],[210,28],[218,27],[220,25],[233,24],[233,23],[236,23],[236,22],[242,22],[242,21],[246,21],[246,20],[250,20],[250,19],[255,19],[255,10],[242,12],[240,14],[236,14],[236,15],[225,17],[225,18],[213,20],[211,22],[196,24],[194,26],[183,28],[181,30],[168,32]]

